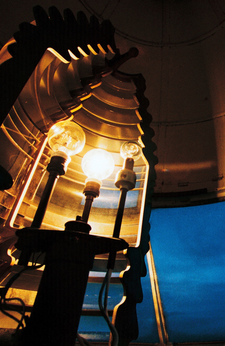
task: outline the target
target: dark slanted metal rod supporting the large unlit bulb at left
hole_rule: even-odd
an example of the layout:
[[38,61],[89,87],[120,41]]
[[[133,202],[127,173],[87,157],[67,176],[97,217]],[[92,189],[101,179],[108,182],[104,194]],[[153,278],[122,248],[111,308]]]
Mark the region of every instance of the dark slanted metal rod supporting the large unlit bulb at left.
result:
[[48,206],[48,202],[51,199],[51,195],[53,194],[56,182],[59,178],[59,174],[56,171],[50,171],[48,176],[48,181],[45,185],[45,189],[41,196],[40,202],[38,204],[38,208],[36,210],[34,219],[30,227],[32,228],[40,228],[42,221],[45,216],[45,212]]

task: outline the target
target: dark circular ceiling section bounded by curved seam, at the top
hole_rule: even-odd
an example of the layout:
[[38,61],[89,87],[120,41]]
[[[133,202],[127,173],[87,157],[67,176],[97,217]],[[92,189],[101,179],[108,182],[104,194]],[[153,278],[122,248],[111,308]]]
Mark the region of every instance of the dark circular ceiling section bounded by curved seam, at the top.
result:
[[223,1],[81,2],[99,18],[110,19],[119,35],[149,46],[196,42],[212,35],[225,20]]

